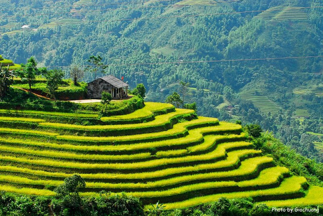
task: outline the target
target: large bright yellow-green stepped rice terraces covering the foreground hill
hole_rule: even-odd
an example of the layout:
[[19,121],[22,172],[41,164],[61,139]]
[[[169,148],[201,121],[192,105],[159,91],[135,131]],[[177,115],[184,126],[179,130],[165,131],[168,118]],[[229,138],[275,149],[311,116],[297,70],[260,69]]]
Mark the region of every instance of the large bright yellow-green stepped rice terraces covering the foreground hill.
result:
[[[71,124],[76,119],[96,124]],[[160,200],[167,209],[220,197],[274,206],[285,199],[323,203],[311,201],[312,187],[304,192],[303,177],[253,149],[240,125],[170,104],[146,102],[132,114],[105,118],[0,110],[0,125],[0,190],[51,196],[65,178],[79,174],[86,181],[82,196],[125,191],[144,204]]]

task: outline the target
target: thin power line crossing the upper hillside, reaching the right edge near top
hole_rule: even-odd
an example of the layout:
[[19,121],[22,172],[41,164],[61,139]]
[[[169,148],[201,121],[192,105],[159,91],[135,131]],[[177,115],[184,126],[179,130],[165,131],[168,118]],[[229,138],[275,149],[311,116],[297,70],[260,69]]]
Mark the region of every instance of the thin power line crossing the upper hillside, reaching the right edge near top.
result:
[[[311,9],[311,8],[323,8],[323,6],[314,6],[314,7],[293,7],[292,9]],[[272,11],[282,11],[282,9],[274,9]],[[203,16],[219,16],[219,15],[228,15],[228,14],[247,14],[247,13],[261,13],[266,10],[257,10],[257,11],[238,11],[238,12],[224,12],[224,13],[215,13],[215,14],[192,14],[192,15],[177,15],[177,16],[167,16],[167,17],[147,17],[147,18],[129,18],[129,19],[115,19],[115,20],[80,20],[77,22],[73,22],[73,24],[77,23],[100,23],[100,22],[118,22],[118,21],[133,21],[133,20],[155,20],[155,19],[171,19],[171,18],[187,18],[187,17],[203,17]],[[58,20],[59,21],[59,20]],[[47,23],[45,23],[47,24]],[[39,26],[45,24],[30,24],[29,26]],[[18,26],[18,24],[17,24]]]

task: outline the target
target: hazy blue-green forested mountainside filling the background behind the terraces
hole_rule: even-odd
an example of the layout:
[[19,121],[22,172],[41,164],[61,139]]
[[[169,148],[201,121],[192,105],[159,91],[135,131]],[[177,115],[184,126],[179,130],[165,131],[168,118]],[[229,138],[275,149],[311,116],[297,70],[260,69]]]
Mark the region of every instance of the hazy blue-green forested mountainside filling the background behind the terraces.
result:
[[196,101],[199,115],[258,123],[303,155],[323,158],[319,0],[0,3],[6,59],[84,66],[100,55],[106,73],[143,83],[154,101],[178,91],[180,80],[190,82],[185,102]]

